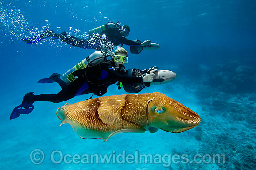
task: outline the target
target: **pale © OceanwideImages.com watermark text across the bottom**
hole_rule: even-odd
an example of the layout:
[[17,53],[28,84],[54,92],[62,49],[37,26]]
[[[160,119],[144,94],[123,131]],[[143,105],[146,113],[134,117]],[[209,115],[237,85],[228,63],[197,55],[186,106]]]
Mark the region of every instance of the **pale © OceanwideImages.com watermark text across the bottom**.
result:
[[[53,164],[162,164],[163,167],[170,167],[171,164],[224,164],[226,156],[223,154],[200,155],[196,154],[193,158],[187,154],[141,154],[126,153],[122,151],[117,154],[112,151],[111,154],[63,154],[62,151],[52,151],[50,161]],[[30,153],[30,160],[33,164],[42,164],[45,160],[45,154],[40,149],[34,149]]]

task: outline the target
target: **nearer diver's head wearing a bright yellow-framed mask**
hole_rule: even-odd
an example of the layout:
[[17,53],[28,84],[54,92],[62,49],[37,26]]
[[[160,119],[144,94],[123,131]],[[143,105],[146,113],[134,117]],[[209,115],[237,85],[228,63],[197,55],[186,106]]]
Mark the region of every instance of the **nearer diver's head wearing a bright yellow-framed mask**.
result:
[[115,66],[119,67],[119,65],[124,65],[128,62],[127,51],[123,47],[118,46],[113,59]]

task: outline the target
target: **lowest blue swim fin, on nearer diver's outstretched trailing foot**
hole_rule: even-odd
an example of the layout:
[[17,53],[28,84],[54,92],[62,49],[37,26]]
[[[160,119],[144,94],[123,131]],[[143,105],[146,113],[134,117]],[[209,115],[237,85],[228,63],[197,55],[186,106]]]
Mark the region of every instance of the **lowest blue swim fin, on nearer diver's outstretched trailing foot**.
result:
[[20,114],[29,114],[33,111],[34,106],[32,103],[22,102],[19,106],[13,109],[10,119],[15,119],[20,116]]

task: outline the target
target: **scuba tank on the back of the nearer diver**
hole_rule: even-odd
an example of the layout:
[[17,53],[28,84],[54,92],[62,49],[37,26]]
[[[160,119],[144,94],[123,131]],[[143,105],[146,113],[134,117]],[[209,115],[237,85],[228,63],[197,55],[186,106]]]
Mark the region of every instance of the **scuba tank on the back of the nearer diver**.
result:
[[69,69],[66,73],[64,73],[62,75],[63,81],[66,82],[67,85],[70,84],[75,79],[77,79],[77,77],[75,77],[72,74],[74,71],[86,68],[89,63],[90,63],[90,65],[101,63],[105,60],[104,56],[105,56],[105,53],[103,51],[101,51],[101,50],[95,51],[94,53],[92,53],[91,55],[86,57],[84,60],[82,60],[81,62],[76,64],[72,69]]

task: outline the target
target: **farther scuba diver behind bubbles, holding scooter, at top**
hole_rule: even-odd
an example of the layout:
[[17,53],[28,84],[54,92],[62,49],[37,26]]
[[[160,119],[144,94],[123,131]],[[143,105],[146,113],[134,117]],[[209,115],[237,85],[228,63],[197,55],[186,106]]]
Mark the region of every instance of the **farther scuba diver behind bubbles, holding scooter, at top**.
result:
[[[92,30],[88,31],[90,39],[81,39],[76,38],[74,36],[67,35],[67,32],[62,32],[61,34],[54,33],[52,30],[46,30],[38,36],[30,37],[30,38],[22,38],[21,40],[25,41],[27,44],[37,43],[45,38],[59,39],[62,42],[70,44],[74,47],[80,47],[84,49],[102,49],[102,42],[99,36],[95,36],[95,34],[106,35],[107,41],[103,41],[106,44],[110,41],[113,46],[118,46],[123,44],[130,46],[131,53],[139,54],[142,50],[155,50],[160,46],[156,43],[151,43],[150,40],[145,40],[143,43],[140,40],[128,40],[125,37],[129,35],[130,27],[128,25],[119,25],[119,22],[113,23],[108,22],[105,25],[99,26]],[[109,50],[112,50],[113,47],[109,47]]]

